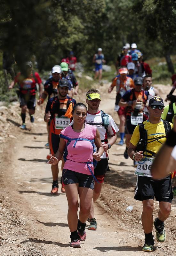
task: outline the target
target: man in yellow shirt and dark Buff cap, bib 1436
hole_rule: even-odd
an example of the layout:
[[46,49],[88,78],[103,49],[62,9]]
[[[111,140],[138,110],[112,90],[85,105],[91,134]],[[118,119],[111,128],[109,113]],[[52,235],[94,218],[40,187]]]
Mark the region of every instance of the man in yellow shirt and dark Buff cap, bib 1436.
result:
[[142,201],[143,204],[142,226],[145,243],[142,250],[144,252],[152,252],[154,247],[152,236],[154,196],[160,208],[158,217],[154,221],[158,242],[165,240],[164,220],[169,217],[173,199],[171,175],[168,174],[162,180],[154,180],[150,173],[156,153],[165,143],[167,134],[173,128],[173,124],[161,119],[163,108],[163,100],[159,96],[150,98],[149,119],[136,126],[128,148],[130,158],[138,161],[135,171],[137,182],[134,198]]

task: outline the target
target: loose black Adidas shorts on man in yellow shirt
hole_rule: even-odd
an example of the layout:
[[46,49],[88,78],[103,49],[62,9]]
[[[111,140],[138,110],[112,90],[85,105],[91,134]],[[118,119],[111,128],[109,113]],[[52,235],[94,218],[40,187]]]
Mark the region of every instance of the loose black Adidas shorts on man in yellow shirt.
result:
[[134,199],[154,199],[159,202],[172,202],[172,181],[171,175],[162,180],[153,180],[151,177],[137,176]]

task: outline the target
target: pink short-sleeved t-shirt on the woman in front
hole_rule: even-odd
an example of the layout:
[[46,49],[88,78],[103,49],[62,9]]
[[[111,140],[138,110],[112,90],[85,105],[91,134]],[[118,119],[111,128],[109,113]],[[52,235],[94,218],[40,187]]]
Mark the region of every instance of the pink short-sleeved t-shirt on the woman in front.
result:
[[[93,140],[96,135],[96,127],[85,124],[85,128],[82,132],[74,132],[71,126],[68,126],[64,130],[61,131],[61,134],[67,136],[70,139],[77,139],[77,138],[84,138],[88,140]],[[65,140],[65,139],[64,139]],[[67,143],[68,140],[65,140]],[[87,175],[92,175],[89,171],[89,168],[87,167],[86,162],[92,162],[93,161],[93,146],[90,141],[86,140],[79,140],[76,142],[75,148],[73,148],[73,145],[75,143],[75,140],[72,140],[67,147],[68,155],[67,155],[67,161],[64,164],[64,169],[68,169],[74,172],[80,172]],[[89,167],[91,168],[92,172],[94,170],[93,164],[89,164]]]

